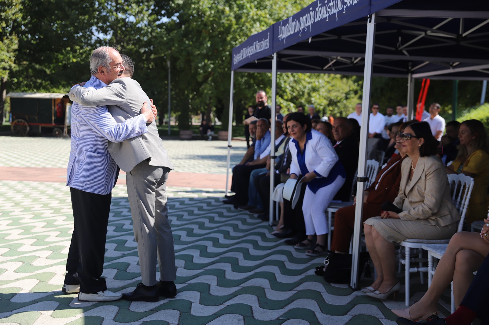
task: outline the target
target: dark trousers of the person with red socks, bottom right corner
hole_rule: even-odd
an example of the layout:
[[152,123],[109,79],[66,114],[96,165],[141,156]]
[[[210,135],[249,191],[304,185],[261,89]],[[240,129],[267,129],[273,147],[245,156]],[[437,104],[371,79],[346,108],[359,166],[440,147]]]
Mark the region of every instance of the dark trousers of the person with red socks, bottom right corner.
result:
[[488,315],[488,292],[489,292],[489,255],[486,256],[484,263],[477,271],[472,284],[467,290],[464,299],[460,305],[466,306],[477,314],[477,317],[482,319],[483,324],[489,324]]

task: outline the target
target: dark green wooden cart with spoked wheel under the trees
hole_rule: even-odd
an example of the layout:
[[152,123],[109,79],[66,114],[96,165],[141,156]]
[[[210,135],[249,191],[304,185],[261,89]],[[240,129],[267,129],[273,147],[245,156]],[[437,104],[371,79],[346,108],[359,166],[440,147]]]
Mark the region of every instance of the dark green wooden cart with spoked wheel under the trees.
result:
[[25,136],[46,128],[56,137],[68,136],[71,104],[62,93],[9,93],[12,132]]

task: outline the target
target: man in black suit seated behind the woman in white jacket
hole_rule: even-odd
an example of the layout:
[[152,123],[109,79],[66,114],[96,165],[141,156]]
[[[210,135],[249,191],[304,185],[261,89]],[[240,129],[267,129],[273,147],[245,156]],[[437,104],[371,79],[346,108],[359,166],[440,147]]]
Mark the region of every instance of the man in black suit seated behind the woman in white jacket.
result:
[[333,122],[333,145],[339,161],[345,168],[346,180],[334,197],[334,200],[350,201],[352,183],[358,167],[358,142],[352,136],[352,124],[347,118],[336,118]]

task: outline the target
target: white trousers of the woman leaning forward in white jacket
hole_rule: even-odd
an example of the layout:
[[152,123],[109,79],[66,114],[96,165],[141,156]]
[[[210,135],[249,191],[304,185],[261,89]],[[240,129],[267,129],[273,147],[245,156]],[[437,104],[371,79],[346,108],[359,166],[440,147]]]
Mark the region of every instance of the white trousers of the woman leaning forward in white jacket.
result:
[[326,220],[326,208],[330,205],[336,192],[343,186],[345,179],[336,177],[333,183],[321,187],[314,194],[309,187],[306,188],[302,212],[306,223],[306,235],[324,235],[329,232]]

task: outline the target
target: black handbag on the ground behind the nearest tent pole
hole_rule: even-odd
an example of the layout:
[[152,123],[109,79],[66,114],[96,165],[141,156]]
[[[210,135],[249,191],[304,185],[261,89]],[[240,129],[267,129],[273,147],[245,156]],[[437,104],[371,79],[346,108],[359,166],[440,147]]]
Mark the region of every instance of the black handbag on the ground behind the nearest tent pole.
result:
[[[358,264],[358,279],[365,269],[364,276],[371,278],[370,272],[370,254],[368,252],[360,252],[360,263]],[[328,283],[349,284],[352,274],[352,254],[339,254],[328,251],[324,258],[324,281]]]

